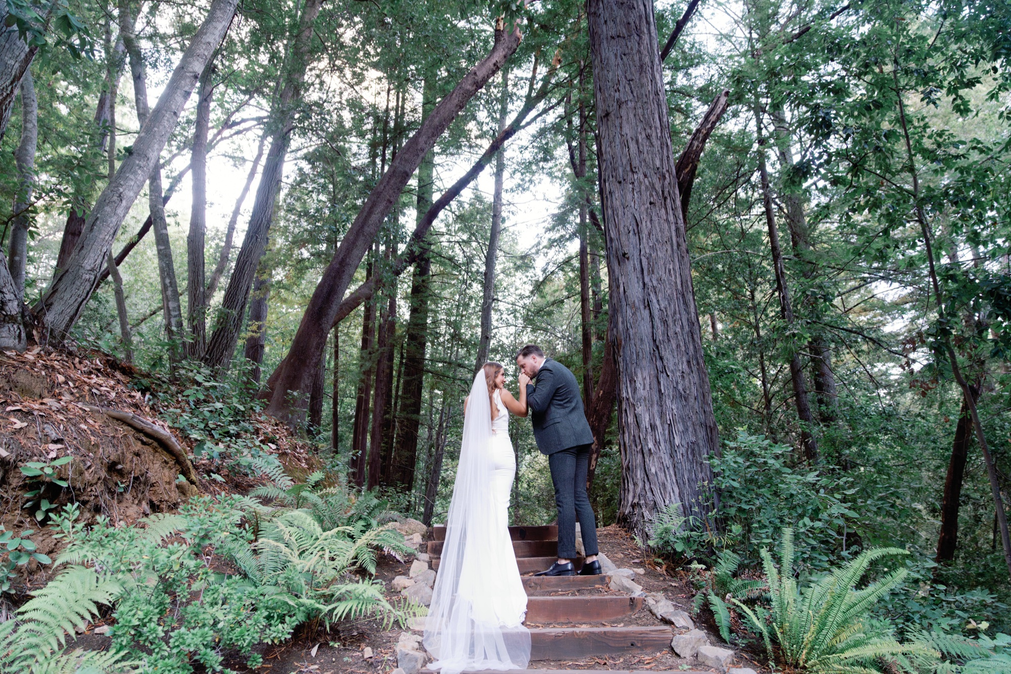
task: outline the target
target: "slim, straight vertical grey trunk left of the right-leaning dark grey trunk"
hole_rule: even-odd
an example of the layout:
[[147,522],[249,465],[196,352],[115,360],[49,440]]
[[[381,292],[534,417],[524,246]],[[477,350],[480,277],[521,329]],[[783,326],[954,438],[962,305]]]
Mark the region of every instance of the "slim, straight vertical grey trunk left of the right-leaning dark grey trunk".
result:
[[194,360],[203,356],[207,339],[204,240],[207,234],[207,134],[210,130],[210,103],[214,96],[212,73],[213,61],[207,64],[200,75],[190,159],[193,204],[190,207],[190,230],[186,235],[186,323],[189,329],[186,351]]

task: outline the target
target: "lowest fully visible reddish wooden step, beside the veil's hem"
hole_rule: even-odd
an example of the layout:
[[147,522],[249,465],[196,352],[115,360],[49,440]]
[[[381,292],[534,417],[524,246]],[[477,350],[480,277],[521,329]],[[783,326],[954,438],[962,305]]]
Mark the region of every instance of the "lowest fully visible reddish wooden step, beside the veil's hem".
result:
[[670,627],[537,627],[530,630],[531,660],[648,655],[670,648]]

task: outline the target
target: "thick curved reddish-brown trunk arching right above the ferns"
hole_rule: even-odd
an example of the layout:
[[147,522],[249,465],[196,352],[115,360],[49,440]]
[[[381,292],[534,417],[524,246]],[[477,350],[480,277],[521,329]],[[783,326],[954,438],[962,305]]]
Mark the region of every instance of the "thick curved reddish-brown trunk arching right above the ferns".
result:
[[[496,26],[494,47],[488,56],[439,101],[432,114],[404,144],[369,194],[334,259],[324,271],[302,316],[289,349],[289,353],[297,353],[299,358],[286,358],[278,368],[281,372],[274,383],[270,406],[267,408],[274,417],[291,426],[299,425],[305,394],[311,385],[311,368],[306,367],[306,361],[314,362],[325,348],[327,334],[334,325],[341,300],[362,257],[422,159],[473,95],[501,68],[505,59],[516,52],[519,45],[519,28],[507,32],[501,25]],[[291,393],[294,395],[290,395]]]

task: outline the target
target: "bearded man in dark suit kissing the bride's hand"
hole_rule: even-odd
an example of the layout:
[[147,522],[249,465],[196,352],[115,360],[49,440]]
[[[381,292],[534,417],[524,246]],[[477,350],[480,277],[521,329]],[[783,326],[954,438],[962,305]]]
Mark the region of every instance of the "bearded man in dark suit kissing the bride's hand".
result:
[[[551,481],[555,485],[558,507],[558,561],[537,576],[574,576],[575,520],[586,560],[580,576],[601,573],[596,560],[596,523],[586,496],[586,468],[589,464],[593,434],[586,423],[579,398],[579,385],[565,365],[544,357],[541,347],[524,346],[516,356],[520,386],[527,387],[527,407],[534,426],[534,437],[541,453],[548,455]],[[537,386],[530,384],[537,380]]]

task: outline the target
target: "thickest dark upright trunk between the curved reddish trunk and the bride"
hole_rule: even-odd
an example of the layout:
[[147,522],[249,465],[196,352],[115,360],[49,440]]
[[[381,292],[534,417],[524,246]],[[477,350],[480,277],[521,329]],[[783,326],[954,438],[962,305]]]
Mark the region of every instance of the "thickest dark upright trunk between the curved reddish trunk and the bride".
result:
[[[422,93],[422,116],[428,117],[436,103],[437,69],[429,65],[425,72]],[[432,206],[436,155],[426,153],[418,166],[417,222],[425,218]],[[403,490],[415,484],[418,462],[418,428],[421,425],[422,394],[425,387],[425,353],[429,331],[429,277],[432,269],[430,242],[427,237],[419,244],[418,261],[410,281],[410,315],[403,338],[403,372],[400,375],[400,401],[396,414],[396,440],[393,446],[389,483]]]

